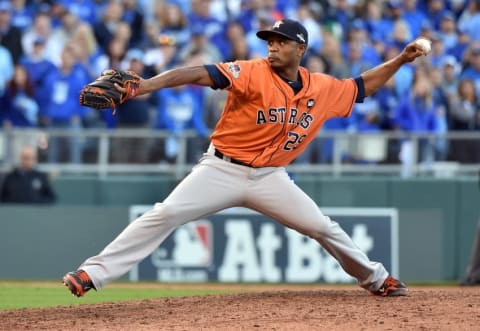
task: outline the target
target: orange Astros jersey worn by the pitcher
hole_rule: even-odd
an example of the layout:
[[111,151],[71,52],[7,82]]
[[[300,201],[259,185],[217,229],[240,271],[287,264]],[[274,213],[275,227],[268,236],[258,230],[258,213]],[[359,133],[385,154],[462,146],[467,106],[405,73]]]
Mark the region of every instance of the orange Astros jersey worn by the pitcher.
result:
[[291,163],[326,120],[349,116],[357,97],[353,79],[338,80],[303,67],[303,88],[295,95],[266,59],[216,66],[230,85],[212,143],[253,167]]

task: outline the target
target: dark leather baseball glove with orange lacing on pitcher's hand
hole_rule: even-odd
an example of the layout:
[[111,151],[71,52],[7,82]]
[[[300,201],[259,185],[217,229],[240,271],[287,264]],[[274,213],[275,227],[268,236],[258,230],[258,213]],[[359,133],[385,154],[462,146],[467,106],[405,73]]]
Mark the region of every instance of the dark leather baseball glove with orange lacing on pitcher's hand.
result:
[[[115,83],[127,91],[121,93]],[[140,76],[133,71],[108,69],[80,91],[80,104],[95,109],[116,108],[125,100],[135,97],[140,86]]]

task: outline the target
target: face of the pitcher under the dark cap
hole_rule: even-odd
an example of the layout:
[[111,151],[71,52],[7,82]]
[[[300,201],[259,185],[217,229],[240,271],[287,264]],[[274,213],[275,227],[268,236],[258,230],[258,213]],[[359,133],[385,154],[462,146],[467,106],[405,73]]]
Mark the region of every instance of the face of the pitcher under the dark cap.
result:
[[305,53],[305,45],[296,41],[272,36],[268,38],[268,61],[272,68],[298,65]]

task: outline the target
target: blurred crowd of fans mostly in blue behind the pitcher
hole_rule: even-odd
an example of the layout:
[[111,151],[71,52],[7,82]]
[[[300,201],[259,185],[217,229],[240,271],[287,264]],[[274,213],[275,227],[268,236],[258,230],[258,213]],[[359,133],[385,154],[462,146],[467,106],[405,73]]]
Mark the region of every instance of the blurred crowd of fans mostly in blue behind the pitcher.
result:
[[[264,57],[266,44],[255,32],[283,17],[309,32],[303,65],[337,78],[360,75],[419,36],[432,40],[428,56],[403,66],[350,118],[330,120],[323,130],[435,133],[420,141],[422,160],[480,162],[480,142],[442,139],[449,131],[480,129],[480,0],[0,0],[0,122],[3,128],[164,129],[169,137],[161,146],[129,148],[137,162],[172,160],[184,130],[207,140],[225,92],[165,89],[127,101],[112,116],[81,107],[81,87],[107,68],[148,78],[176,66]],[[203,151],[202,139],[196,141],[190,160]],[[82,162],[85,142],[63,145],[51,139],[50,161]],[[389,142],[385,155],[346,149],[342,157],[408,163],[412,148],[402,139]],[[132,161],[122,148],[113,150],[114,159]],[[332,141],[319,139],[297,162],[330,162],[332,153]]]

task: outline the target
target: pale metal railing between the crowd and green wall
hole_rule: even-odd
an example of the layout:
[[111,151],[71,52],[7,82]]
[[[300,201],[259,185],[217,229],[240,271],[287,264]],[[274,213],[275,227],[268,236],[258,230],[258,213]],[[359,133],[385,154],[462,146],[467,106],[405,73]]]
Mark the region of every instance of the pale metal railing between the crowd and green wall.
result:
[[[0,172],[5,172],[15,165],[22,145],[32,145],[38,147],[40,169],[56,174],[108,176],[164,173],[182,178],[190,171],[208,141],[206,138],[198,137],[193,131],[176,136],[174,142],[177,153],[167,162],[158,150],[168,150],[171,139],[172,136],[167,131],[150,129],[3,129],[0,130]],[[432,152],[436,145],[447,144],[451,149],[455,142],[460,141],[478,142],[474,144],[478,147],[473,146],[472,153],[480,155],[480,132],[448,132],[433,135],[332,131],[320,132],[316,139],[319,139],[318,142],[325,139],[331,141],[331,158],[322,163],[294,162],[288,166],[290,173],[325,174],[335,177],[352,174],[453,177],[477,175],[480,170],[479,163],[444,161],[435,158],[433,153],[426,159],[419,157],[419,150],[423,145],[429,146],[427,150]],[[49,158],[49,154],[55,140],[60,141],[57,145],[63,146],[63,151],[57,158],[52,159]],[[392,155],[389,151],[391,143],[400,141],[409,142],[408,148],[405,148],[408,150],[408,160],[403,163],[395,158],[393,161],[389,160],[389,156]],[[201,144],[193,146],[198,142]],[[72,162],[65,159],[65,155],[75,149],[72,146],[77,146],[77,151],[80,150],[81,160]],[[88,160],[84,157],[86,150],[89,153]],[[128,156],[128,153],[139,152],[148,154],[148,157],[142,161],[133,158],[128,162],[112,157],[112,154]],[[397,152],[399,150],[393,153]],[[405,154],[403,156],[405,158]]]

